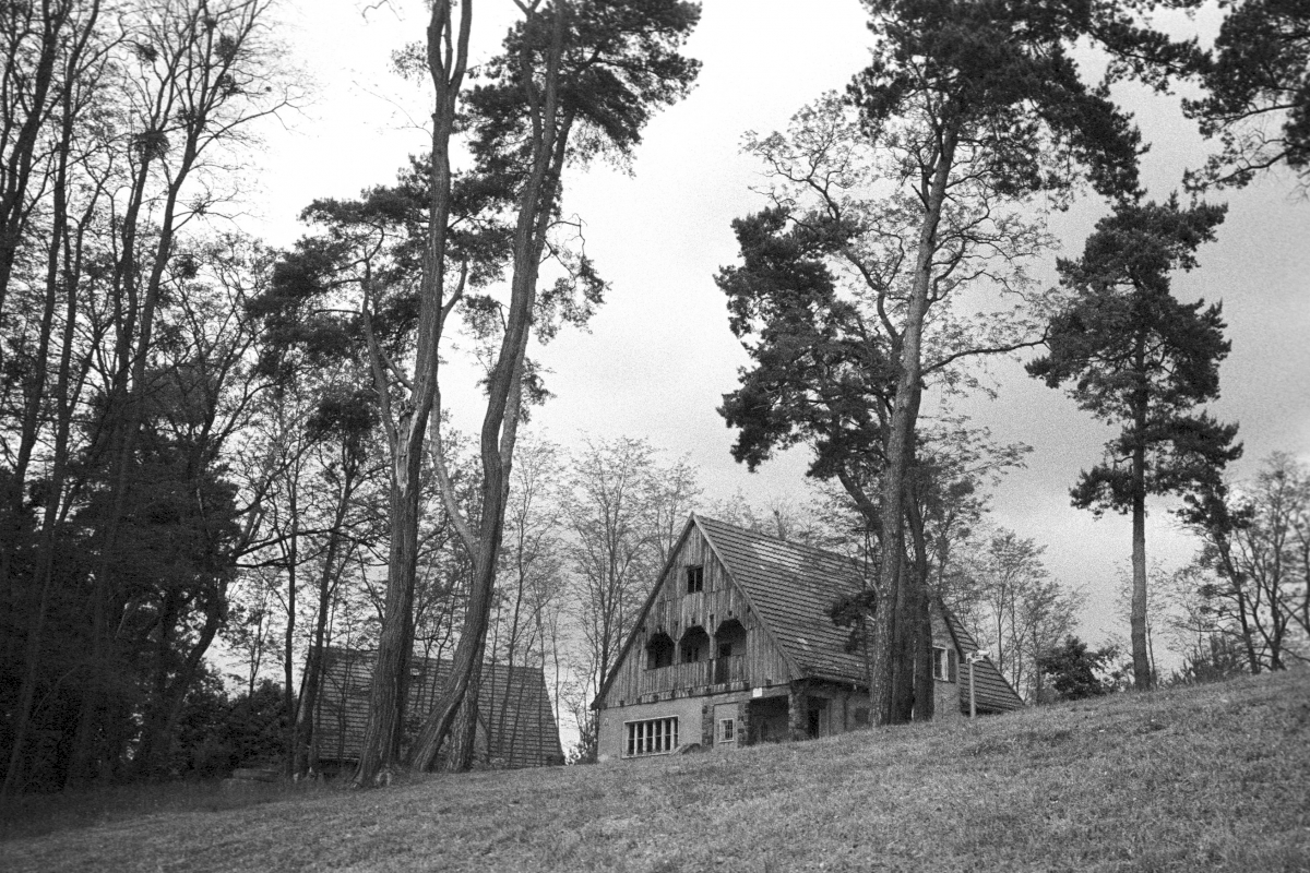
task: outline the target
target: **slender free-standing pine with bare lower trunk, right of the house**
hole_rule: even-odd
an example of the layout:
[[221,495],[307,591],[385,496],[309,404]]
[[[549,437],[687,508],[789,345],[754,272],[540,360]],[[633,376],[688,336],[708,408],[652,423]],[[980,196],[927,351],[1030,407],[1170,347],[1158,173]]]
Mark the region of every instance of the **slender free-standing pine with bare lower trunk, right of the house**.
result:
[[1120,204],[1087,238],[1081,259],[1060,262],[1070,291],[1052,318],[1049,352],[1028,373],[1069,395],[1103,421],[1123,425],[1103,463],[1085,470],[1073,505],[1100,516],[1132,516],[1133,682],[1151,685],[1146,644],[1146,496],[1213,488],[1242,453],[1235,425],[1191,411],[1218,397],[1218,365],[1230,344],[1222,310],[1182,304],[1169,274],[1196,266],[1196,249],[1214,238],[1224,208]]

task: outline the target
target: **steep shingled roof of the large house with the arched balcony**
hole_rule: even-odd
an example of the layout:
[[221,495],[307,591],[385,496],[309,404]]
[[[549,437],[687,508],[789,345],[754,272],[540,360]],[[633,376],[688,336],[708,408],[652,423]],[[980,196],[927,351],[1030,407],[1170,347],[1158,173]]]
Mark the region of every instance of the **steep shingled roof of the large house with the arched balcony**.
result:
[[[732,581],[749,598],[765,628],[787,658],[806,677],[863,685],[865,664],[845,650],[846,631],[828,618],[840,594],[861,590],[859,564],[844,555],[786,542],[723,521],[692,516]],[[947,627],[964,653],[979,644],[954,613],[941,606]],[[968,711],[968,668],[960,665],[960,707]],[[996,665],[980,658],[973,666],[975,698],[980,712],[1018,709],[1023,699]]]

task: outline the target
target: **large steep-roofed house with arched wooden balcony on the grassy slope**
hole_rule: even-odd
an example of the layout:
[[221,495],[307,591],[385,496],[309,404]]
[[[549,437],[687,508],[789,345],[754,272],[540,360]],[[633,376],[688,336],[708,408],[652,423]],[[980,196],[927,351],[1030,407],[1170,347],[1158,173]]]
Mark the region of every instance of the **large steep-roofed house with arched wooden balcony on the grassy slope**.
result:
[[[855,561],[693,514],[592,704],[601,760],[823,737],[870,722],[863,657],[828,607],[861,589]],[[934,606],[938,717],[1022,699]]]

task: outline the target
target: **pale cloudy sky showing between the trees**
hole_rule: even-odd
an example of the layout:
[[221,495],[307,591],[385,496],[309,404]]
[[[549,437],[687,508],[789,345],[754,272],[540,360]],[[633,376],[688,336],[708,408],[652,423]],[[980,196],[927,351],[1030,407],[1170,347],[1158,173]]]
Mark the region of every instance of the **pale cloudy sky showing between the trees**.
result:
[[[414,82],[390,72],[390,52],[423,35],[418,0],[389,5],[305,0],[284,10],[286,58],[312,85],[313,98],[282,126],[265,131],[265,148],[245,186],[253,226],[276,246],[304,228],[296,215],[312,199],[355,196],[389,182],[424,148],[431,111]],[[489,58],[516,14],[512,0],[476,0],[473,60]],[[1212,34],[1213,14],[1199,27]],[[1187,27],[1176,20],[1174,26]],[[867,62],[870,37],[858,0],[706,0],[686,54],[702,62],[690,97],[647,127],[631,173],[597,165],[566,178],[565,212],[582,219],[587,253],[610,283],[590,330],[561,334],[538,355],[554,394],[534,411],[533,428],[565,445],[582,437],[645,437],[668,458],[688,455],[709,499],[740,491],[752,504],[803,504],[808,452],[794,449],[756,474],[732,461],[734,432],[715,411],[748,363],[728,330],[715,272],[736,262],[735,217],[764,202],[752,191],[760,166],[740,152],[747,131],[770,132],[825,90],[841,89]],[[1153,199],[1178,190],[1184,169],[1208,147],[1182,116],[1176,97],[1121,86],[1151,144],[1144,181]],[[418,119],[418,120],[415,120]],[[1233,467],[1254,475],[1260,459],[1282,450],[1310,462],[1310,202],[1289,177],[1210,198],[1229,204],[1218,240],[1200,266],[1175,279],[1183,300],[1222,301],[1233,351],[1221,368],[1222,398],[1210,408],[1241,423],[1246,455]],[[1083,200],[1052,221],[1062,254],[1074,257],[1106,207]],[[1038,275],[1055,281],[1052,253]],[[1061,391],[1028,378],[1020,360],[993,361],[996,398],[962,406],[1001,441],[1032,446],[1026,469],[993,495],[993,522],[1045,546],[1045,563],[1089,596],[1083,632],[1091,640],[1127,637],[1115,590],[1128,565],[1129,522],[1096,521],[1069,505],[1081,469],[1100,459],[1114,431],[1094,421]],[[474,427],[472,378],[453,394],[457,424]],[[447,389],[449,390],[449,389]],[[468,416],[466,419],[462,416]],[[1196,543],[1154,499],[1148,556],[1171,569]]]

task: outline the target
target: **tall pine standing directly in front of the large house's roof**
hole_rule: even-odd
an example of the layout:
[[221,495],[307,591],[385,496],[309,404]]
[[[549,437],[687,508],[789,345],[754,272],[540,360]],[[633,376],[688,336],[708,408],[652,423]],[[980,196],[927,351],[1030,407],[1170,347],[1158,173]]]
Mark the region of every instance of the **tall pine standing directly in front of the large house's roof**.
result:
[[[884,181],[896,192],[891,205],[861,217],[869,219],[875,237],[879,215],[896,223],[887,228],[883,242],[891,257],[875,260],[879,271],[872,277],[895,280],[883,293],[895,300],[897,323],[887,323],[882,313],[878,321],[871,319],[866,335],[883,322],[884,343],[867,344],[848,360],[861,361],[852,390],[884,398],[876,416],[865,414],[859,423],[878,432],[876,440],[863,436],[865,452],[872,454],[879,446],[880,454],[878,499],[869,501],[865,512],[876,518],[882,543],[872,694],[876,719],[887,722],[930,709],[922,705],[931,682],[926,582],[905,559],[905,504],[918,450],[929,312],[943,293],[988,275],[985,268],[981,275],[975,268],[976,255],[989,246],[1014,242],[1023,247],[998,228],[1015,223],[1001,207],[1024,204],[1043,192],[1058,200],[1083,173],[1107,196],[1132,192],[1138,137],[1106,89],[1079,77],[1069,55],[1077,39],[1095,37],[1103,18],[1115,18],[1117,7],[926,0],[867,5],[878,43],[872,63],[850,86],[849,99],[859,110],[869,145],[887,156],[891,171]],[[840,187],[848,168],[837,168],[810,185],[820,195]],[[853,225],[810,223],[781,237],[785,221],[777,212],[762,213],[755,220],[758,226],[739,228],[739,238],[745,249],[776,237],[795,253],[773,255],[782,264],[776,280],[779,291],[789,284],[804,288],[789,315],[793,322],[804,322],[812,306],[804,297],[831,293],[831,277],[817,268],[814,255],[840,251]],[[815,340],[825,353],[841,343],[828,312],[824,304],[814,319]],[[735,318],[743,315],[735,313]],[[762,347],[768,348],[772,342],[765,339]],[[807,348],[779,344],[772,353],[785,365]],[[758,393],[743,399],[768,407]],[[921,665],[917,674],[914,664]]]

